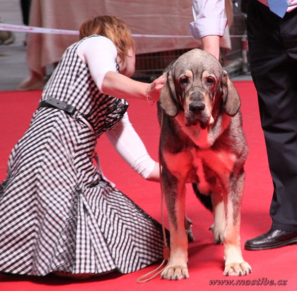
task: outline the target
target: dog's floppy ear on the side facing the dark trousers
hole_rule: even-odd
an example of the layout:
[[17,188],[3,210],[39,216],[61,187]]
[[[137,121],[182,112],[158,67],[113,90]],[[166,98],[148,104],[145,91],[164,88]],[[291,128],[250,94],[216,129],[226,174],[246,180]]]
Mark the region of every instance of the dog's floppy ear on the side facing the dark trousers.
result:
[[229,116],[233,117],[237,114],[241,102],[238,92],[226,71],[223,71],[221,86],[223,91],[223,108]]

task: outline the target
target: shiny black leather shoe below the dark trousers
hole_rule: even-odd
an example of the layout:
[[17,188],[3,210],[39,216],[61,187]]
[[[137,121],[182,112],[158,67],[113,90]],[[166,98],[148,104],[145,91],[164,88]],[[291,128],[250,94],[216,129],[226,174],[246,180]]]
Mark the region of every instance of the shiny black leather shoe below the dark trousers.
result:
[[261,236],[248,240],[245,244],[245,249],[270,249],[295,243],[297,243],[297,233],[290,233],[281,230],[270,230]]

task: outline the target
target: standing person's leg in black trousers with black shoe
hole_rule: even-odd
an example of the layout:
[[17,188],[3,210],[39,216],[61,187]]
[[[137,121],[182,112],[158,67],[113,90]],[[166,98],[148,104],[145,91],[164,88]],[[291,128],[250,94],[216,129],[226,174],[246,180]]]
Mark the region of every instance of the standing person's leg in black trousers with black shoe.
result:
[[250,70],[274,186],[271,230],[245,245],[255,250],[297,242],[297,10],[281,19],[252,0],[247,23]]

